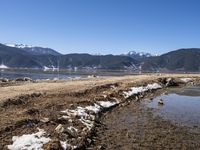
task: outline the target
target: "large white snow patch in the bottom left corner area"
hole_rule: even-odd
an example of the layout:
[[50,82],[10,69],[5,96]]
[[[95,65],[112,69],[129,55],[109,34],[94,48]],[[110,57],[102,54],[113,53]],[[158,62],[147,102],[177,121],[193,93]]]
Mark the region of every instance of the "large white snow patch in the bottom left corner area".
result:
[[44,137],[46,132],[38,129],[37,133],[24,134],[22,136],[13,136],[12,145],[8,145],[10,150],[42,150],[42,146],[48,143],[51,139]]

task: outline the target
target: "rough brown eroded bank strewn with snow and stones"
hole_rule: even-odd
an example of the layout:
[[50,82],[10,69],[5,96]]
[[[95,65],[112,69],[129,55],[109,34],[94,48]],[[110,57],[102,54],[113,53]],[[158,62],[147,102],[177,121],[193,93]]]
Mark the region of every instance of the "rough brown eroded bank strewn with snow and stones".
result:
[[104,112],[152,96],[157,89],[189,82],[184,80],[161,78],[127,86],[106,84],[82,92],[7,100],[0,110],[0,148],[86,148],[94,143],[96,127],[102,126],[100,118]]

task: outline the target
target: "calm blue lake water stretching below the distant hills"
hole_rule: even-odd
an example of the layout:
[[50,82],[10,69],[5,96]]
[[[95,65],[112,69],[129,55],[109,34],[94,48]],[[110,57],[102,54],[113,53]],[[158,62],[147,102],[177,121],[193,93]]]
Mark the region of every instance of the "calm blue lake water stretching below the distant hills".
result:
[[131,71],[116,71],[116,70],[79,70],[79,71],[61,71],[58,72],[44,72],[41,70],[0,70],[0,78],[19,78],[30,77],[32,79],[70,79],[70,78],[87,78],[89,75],[96,76],[123,76],[133,75]]

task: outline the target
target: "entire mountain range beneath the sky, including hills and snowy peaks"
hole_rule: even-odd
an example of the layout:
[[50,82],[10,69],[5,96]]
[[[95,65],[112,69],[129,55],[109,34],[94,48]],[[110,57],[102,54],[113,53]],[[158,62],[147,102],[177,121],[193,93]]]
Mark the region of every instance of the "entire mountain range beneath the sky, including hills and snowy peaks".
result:
[[23,44],[0,44],[0,62],[9,68],[126,69],[133,71],[200,71],[200,49],[179,49],[153,56],[135,51],[123,55],[60,54]]

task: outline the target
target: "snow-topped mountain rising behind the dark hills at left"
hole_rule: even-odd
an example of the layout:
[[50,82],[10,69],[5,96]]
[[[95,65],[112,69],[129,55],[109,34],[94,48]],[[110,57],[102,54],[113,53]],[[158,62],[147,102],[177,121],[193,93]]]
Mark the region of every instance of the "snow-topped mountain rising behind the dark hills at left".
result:
[[33,55],[56,55],[56,56],[61,55],[60,53],[51,48],[43,48],[39,46],[32,46],[26,44],[5,44],[5,45],[9,47],[23,49]]

